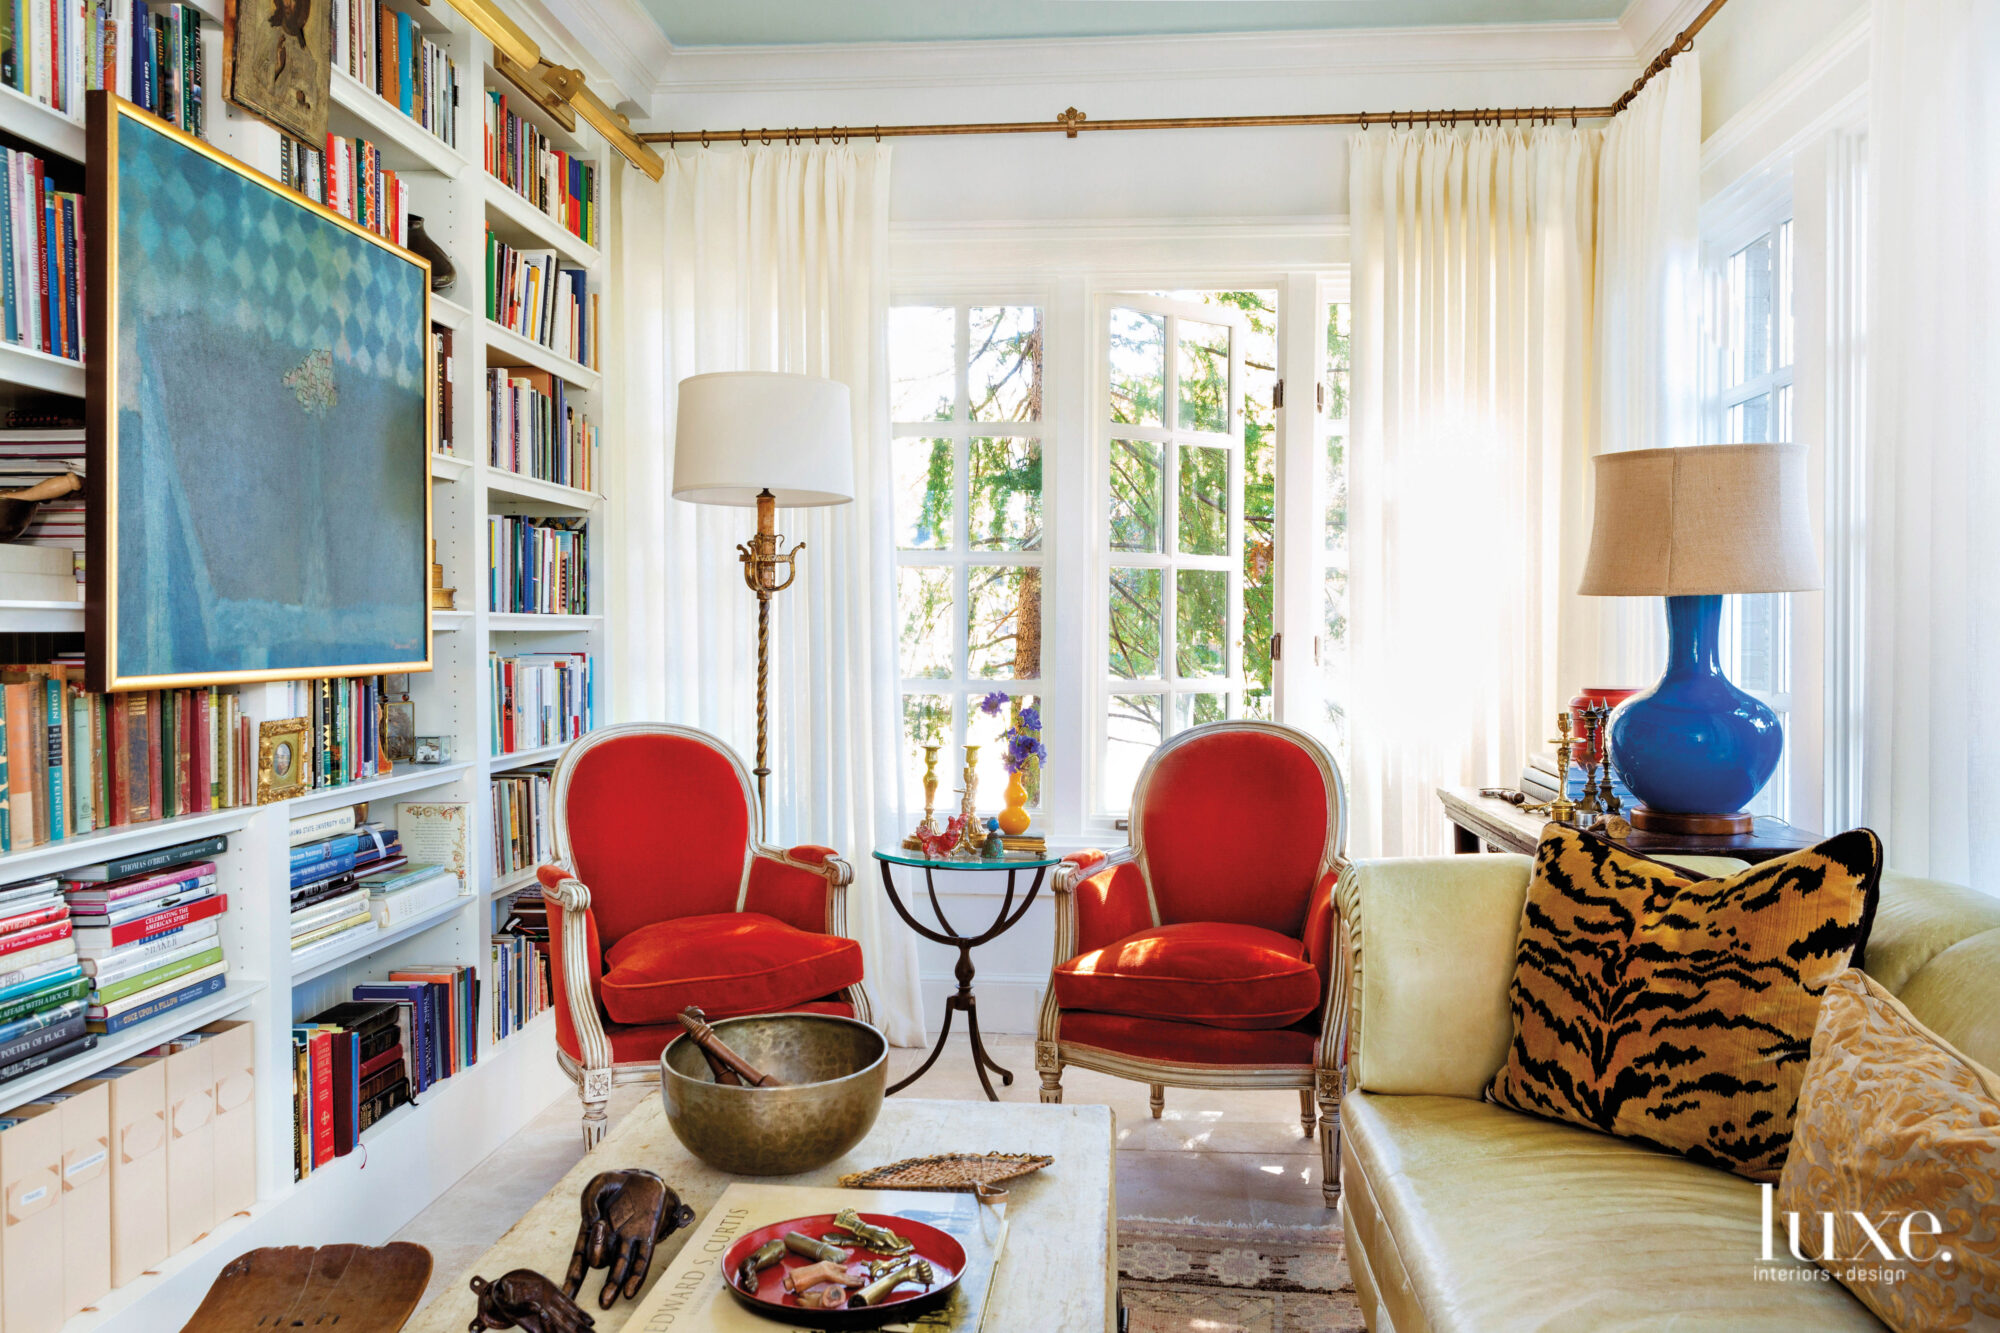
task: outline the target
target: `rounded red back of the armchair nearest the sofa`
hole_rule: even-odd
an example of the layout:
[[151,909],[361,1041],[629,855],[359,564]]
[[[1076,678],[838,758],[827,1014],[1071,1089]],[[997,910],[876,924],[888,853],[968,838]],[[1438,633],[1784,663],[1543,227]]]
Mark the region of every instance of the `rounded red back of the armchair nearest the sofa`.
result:
[[1292,727],[1194,727],[1140,773],[1132,847],[1160,925],[1228,921],[1300,939],[1312,887],[1346,849],[1340,773]]

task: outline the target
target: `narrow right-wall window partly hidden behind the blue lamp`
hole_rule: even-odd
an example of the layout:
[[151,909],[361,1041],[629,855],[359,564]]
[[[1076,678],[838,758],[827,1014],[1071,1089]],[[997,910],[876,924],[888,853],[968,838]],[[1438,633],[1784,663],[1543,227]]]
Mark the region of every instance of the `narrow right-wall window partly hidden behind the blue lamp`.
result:
[[[1770,216],[1770,214],[1766,214]],[[1706,266],[1710,444],[1792,440],[1792,220],[1752,224],[1748,240],[1718,246]],[[1730,679],[1778,713],[1790,729],[1790,598],[1730,596],[1724,602],[1722,660]],[[1790,747],[1770,785],[1750,803],[1756,815],[1790,809]]]

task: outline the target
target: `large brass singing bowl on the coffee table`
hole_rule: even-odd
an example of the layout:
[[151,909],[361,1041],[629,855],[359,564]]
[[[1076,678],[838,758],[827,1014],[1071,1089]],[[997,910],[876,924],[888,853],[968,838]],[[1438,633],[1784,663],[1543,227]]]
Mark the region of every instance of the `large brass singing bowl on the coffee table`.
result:
[[660,1053],[666,1123],[690,1153],[730,1175],[796,1175],[834,1161],[874,1129],[888,1041],[856,1019],[768,1013],[718,1019],[716,1037],[784,1087],[730,1087],[682,1033]]

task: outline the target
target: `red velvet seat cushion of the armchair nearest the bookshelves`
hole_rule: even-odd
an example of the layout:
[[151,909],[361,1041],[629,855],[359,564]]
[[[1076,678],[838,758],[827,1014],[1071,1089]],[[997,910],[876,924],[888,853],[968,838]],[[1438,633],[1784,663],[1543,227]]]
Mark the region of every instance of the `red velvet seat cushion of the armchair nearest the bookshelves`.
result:
[[604,1013],[614,1023],[672,1023],[688,1005],[710,1017],[768,1013],[862,979],[862,947],[764,913],[656,921],[604,955]]

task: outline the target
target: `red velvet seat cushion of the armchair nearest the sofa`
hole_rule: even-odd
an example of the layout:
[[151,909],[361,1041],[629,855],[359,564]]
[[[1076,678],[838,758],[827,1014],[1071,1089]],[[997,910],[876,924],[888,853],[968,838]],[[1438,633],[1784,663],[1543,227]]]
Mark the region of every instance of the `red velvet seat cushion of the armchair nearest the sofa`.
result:
[[1304,941],[1228,921],[1126,935],[1056,969],[1056,1003],[1230,1029],[1290,1027],[1320,1007]]

